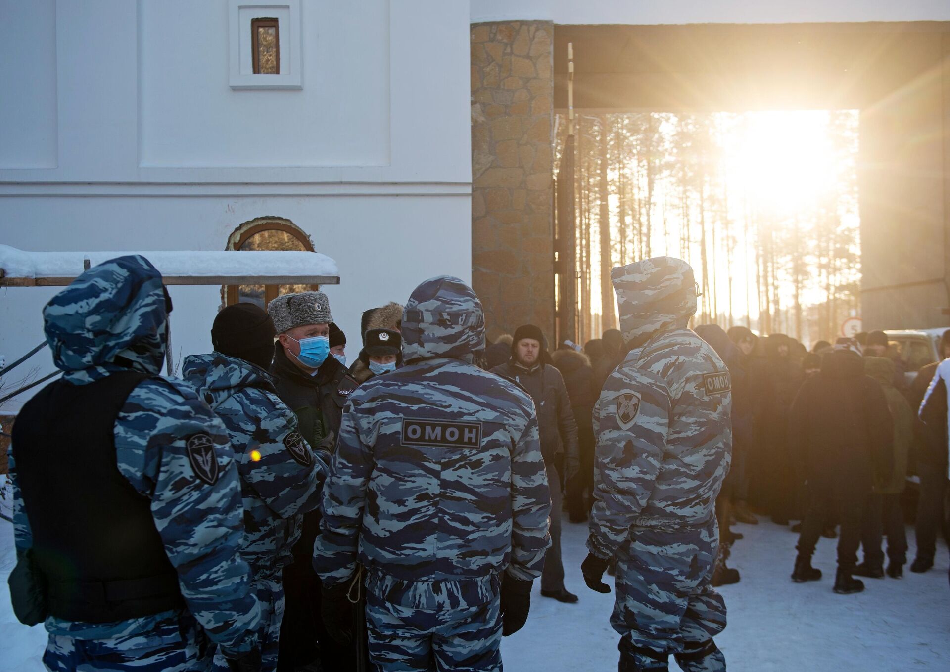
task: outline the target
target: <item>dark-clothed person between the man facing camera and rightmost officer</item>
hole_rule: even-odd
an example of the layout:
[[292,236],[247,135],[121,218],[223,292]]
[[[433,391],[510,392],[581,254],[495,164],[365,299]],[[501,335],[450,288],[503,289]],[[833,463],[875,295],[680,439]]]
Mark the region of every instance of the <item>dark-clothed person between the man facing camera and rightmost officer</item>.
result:
[[[578,425],[578,475],[567,481],[567,514],[572,523],[587,520],[593,505],[594,490],[594,404],[599,390],[594,389],[594,372],[587,355],[573,347],[564,346],[551,355],[552,364],[559,371],[571,400],[571,410]],[[590,495],[588,495],[590,494]]]

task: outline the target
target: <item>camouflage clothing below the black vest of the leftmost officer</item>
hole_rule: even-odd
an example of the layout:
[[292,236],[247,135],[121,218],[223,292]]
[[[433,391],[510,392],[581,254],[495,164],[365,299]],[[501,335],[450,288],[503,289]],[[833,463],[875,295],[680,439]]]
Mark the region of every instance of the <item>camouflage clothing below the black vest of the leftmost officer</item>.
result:
[[55,672],[192,672],[206,670],[211,647],[190,614],[165,619],[147,632],[83,640],[49,635],[43,663]]

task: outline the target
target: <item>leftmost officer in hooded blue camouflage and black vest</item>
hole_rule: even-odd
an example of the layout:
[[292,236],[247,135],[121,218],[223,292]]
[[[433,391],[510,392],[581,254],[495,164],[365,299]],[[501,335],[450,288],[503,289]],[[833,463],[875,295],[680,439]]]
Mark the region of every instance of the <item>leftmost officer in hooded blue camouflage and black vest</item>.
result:
[[14,425],[10,588],[46,617],[50,670],[203,670],[214,644],[259,667],[231,445],[194,389],[158,375],[170,309],[159,271],[130,255],[43,310],[64,373]]

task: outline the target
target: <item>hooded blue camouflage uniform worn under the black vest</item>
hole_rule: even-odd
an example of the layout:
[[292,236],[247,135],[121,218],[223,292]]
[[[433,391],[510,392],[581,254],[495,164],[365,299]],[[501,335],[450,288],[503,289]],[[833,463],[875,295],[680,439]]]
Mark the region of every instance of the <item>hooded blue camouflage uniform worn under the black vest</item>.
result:
[[[164,551],[177,569],[186,610],[114,623],[48,617],[50,670],[166,672],[203,670],[217,644],[237,655],[257,645],[259,607],[239,551],[244,534],[237,465],[224,427],[186,383],[158,376],[167,313],[161,274],[142,256],[123,256],[85,271],[43,311],[54,364],[69,383],[99,381],[133,369],[148,378],[132,390],[114,425],[119,472],[151,500]],[[50,419],[55,420],[55,419]],[[218,472],[196,473],[186,440],[210,436]],[[15,544],[32,546],[10,447]]]

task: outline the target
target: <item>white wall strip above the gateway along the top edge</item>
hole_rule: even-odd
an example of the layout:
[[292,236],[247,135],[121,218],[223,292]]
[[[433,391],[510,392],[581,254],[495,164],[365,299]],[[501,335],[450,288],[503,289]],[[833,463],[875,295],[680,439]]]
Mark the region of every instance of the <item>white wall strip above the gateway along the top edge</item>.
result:
[[471,0],[471,22],[556,24],[788,24],[950,21],[946,0]]

